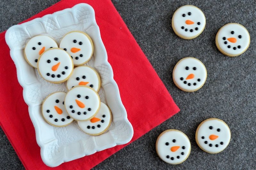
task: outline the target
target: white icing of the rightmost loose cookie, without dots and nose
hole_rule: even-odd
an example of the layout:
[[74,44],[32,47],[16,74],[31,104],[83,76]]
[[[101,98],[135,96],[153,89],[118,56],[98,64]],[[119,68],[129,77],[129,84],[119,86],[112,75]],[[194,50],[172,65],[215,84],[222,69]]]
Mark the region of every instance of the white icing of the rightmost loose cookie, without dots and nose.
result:
[[[234,31],[234,34],[231,34],[231,31]],[[241,35],[242,37],[239,38],[239,35]],[[223,40],[223,37],[225,37],[226,40]],[[228,38],[236,38],[237,41],[235,43],[232,43],[227,40]],[[227,24],[219,30],[217,41],[222,51],[227,54],[238,55],[246,50],[249,46],[250,35],[246,28],[241,25]],[[224,44],[224,42],[227,42],[227,44]],[[230,48],[228,48],[228,45],[230,45]],[[239,45],[241,46],[241,48],[238,48]],[[234,47],[236,47],[236,50],[233,49]]]

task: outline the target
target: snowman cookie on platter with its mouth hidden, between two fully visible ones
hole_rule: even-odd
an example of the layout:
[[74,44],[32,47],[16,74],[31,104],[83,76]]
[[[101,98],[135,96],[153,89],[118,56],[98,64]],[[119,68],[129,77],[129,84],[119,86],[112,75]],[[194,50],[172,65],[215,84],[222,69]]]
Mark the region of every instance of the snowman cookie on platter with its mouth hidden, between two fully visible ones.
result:
[[97,71],[86,65],[76,67],[70,78],[67,80],[68,90],[77,85],[87,85],[98,92],[100,84],[100,76]]

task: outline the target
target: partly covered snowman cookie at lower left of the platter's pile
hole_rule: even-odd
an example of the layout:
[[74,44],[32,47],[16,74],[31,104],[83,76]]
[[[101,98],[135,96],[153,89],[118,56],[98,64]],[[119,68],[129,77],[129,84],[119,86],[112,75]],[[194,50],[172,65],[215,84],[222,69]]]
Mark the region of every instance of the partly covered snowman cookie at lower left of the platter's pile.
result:
[[65,96],[64,92],[55,92],[44,99],[42,114],[50,125],[63,127],[73,122],[74,119],[67,114],[64,106]]

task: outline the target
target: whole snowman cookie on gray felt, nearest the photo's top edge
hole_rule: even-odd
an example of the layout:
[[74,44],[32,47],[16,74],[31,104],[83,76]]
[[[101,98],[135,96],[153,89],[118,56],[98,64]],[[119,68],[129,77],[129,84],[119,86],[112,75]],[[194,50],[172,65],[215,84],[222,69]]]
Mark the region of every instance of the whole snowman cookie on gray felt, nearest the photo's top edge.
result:
[[196,6],[184,5],[172,16],[171,26],[176,35],[183,39],[193,39],[204,31],[206,19]]

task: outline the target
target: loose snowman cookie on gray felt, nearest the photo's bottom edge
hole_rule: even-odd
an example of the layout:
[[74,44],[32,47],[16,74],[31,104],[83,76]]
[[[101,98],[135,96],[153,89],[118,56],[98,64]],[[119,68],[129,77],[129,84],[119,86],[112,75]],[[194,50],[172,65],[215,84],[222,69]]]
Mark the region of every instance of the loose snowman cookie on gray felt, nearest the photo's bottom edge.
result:
[[169,129],[162,132],[156,143],[157,155],[168,164],[184,162],[191,151],[190,140],[179,130]]

